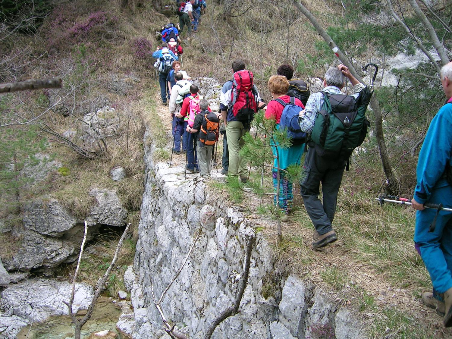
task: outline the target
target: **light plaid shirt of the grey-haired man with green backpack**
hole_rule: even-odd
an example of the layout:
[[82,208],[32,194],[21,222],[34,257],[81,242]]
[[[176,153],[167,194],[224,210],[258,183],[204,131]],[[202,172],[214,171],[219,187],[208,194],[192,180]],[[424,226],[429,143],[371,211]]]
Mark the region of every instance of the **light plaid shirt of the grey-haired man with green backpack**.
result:
[[[361,83],[353,86],[353,94],[351,94],[355,99],[358,97],[359,93],[366,87]],[[344,94],[336,86],[326,86],[322,91],[328,94]],[[310,95],[308,102],[306,103],[306,112],[300,119],[301,131],[307,134],[312,133],[312,128],[314,128],[315,115],[318,111],[322,109],[324,95],[322,92],[317,92]]]

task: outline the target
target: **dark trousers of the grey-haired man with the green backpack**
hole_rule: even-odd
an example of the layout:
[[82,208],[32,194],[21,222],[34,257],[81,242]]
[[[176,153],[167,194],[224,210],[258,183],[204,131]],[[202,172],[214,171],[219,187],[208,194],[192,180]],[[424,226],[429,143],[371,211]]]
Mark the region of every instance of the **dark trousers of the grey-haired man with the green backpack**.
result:
[[[304,179],[301,180],[301,197],[306,211],[320,235],[332,231],[331,223],[336,212],[336,202],[339,187],[342,182],[347,160],[338,157],[318,155],[315,147],[309,147],[303,170]],[[319,199],[320,183],[322,183],[323,203]]]

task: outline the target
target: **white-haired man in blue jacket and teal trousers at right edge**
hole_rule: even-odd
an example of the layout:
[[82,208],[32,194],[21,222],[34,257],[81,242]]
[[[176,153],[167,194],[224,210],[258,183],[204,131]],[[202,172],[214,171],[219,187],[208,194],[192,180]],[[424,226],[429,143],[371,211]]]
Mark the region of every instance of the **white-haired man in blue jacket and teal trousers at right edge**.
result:
[[414,244],[433,284],[433,293],[424,293],[422,301],[445,313],[443,324],[451,327],[452,212],[428,209],[424,203],[452,207],[452,62],[441,69],[441,85],[447,102],[430,122],[419,152],[411,206],[417,210]]

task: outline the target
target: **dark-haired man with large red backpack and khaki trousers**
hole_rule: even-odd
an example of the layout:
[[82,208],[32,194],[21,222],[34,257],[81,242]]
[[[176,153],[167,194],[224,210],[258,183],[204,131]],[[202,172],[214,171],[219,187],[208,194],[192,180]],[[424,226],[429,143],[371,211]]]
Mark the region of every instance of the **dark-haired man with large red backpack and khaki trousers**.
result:
[[[228,174],[248,180],[246,161],[239,155],[245,145],[243,135],[250,130],[254,113],[265,106],[260,100],[259,91],[253,82],[253,73],[245,70],[241,60],[232,62],[233,80],[226,81],[221,89],[220,109],[226,127],[227,147],[229,151]],[[237,91],[237,86],[240,91]],[[240,106],[240,108],[239,108]]]

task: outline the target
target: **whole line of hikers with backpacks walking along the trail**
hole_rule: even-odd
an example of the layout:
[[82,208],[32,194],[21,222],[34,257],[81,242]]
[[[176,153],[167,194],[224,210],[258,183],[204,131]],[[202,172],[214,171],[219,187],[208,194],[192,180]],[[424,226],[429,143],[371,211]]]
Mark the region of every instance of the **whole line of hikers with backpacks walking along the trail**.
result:
[[[198,0],[192,0],[190,4],[195,1]],[[191,13],[183,15],[193,19]],[[182,28],[186,19],[181,19]],[[180,41],[177,35],[170,39]],[[222,134],[221,174],[228,175],[226,182],[232,177],[246,182],[249,172],[240,149],[245,145],[244,135],[250,131],[254,114],[263,109],[265,119],[274,119],[273,132],[284,130],[292,140],[289,147],[278,145],[274,138],[270,140],[274,159],[273,203],[281,211],[279,219],[287,221],[293,205],[292,182],[287,177],[287,168],[300,165],[306,152],[302,165],[304,177],[299,184],[306,212],[314,225],[312,247],[317,250],[336,241],[338,237],[332,224],[339,187],[353,150],[363,143],[370,126],[365,113],[373,93],[377,65],[364,67],[376,69],[370,85],[359,82],[347,66],[332,67],[325,73],[324,88],[311,95],[304,80],[293,79],[292,66],[281,65],[277,75],[268,80],[272,100],[265,104],[254,85],[253,72],[246,70],[243,61],[235,60],[232,62],[232,79],[222,86],[220,110],[215,113],[209,108],[209,102],[198,94],[198,85],[180,70],[177,51],[174,53],[163,42],[153,56],[157,58],[155,66],[160,71],[164,105],[169,97],[174,138],[170,164],[173,153],[185,153],[185,170],[209,178],[215,143]],[[353,86],[353,94],[342,91],[346,78]],[[444,314],[444,325],[451,327],[452,62],[443,66],[441,83],[447,103],[433,118],[419,153],[414,198],[380,197],[377,200],[410,204],[418,210],[414,244],[433,283],[433,292],[425,292],[422,301]],[[320,183],[322,200],[319,199]]]

